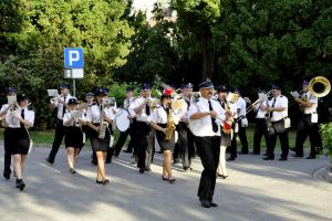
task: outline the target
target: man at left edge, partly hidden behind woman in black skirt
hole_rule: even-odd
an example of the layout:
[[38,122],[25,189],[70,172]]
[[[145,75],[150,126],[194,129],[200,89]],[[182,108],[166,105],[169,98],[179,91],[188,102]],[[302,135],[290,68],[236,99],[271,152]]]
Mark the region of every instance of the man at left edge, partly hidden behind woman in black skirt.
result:
[[2,118],[2,126],[4,127],[3,130],[3,147],[4,147],[4,167],[3,167],[3,177],[6,179],[10,179],[10,173],[11,173],[11,149],[8,146],[8,125],[6,125],[6,115],[7,113],[10,110],[10,108],[13,107],[14,103],[12,103],[11,97],[15,97],[17,96],[17,90],[14,87],[8,87],[7,90],[7,99],[8,103],[3,104],[1,106],[1,110],[0,110],[0,118]]

